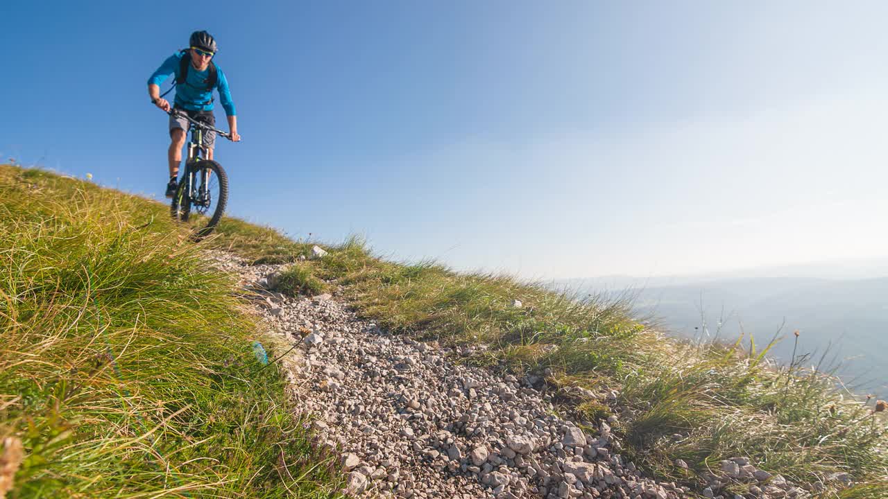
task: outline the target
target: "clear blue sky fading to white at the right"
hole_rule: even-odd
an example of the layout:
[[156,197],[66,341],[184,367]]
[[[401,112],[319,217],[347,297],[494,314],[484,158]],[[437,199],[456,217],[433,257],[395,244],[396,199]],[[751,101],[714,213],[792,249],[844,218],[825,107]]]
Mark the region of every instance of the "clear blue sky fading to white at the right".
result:
[[159,197],[147,77],[207,29],[229,213],[293,237],[543,279],[888,256],[886,11],[13,0],[0,154]]

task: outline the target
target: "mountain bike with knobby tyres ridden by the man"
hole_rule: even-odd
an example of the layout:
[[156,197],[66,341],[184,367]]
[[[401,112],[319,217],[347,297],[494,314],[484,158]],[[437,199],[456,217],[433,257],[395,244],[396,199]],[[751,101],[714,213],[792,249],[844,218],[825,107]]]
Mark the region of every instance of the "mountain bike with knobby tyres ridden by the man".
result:
[[[194,228],[194,239],[200,240],[216,227],[225,213],[228,202],[228,176],[218,162],[205,159],[206,146],[203,145],[203,134],[215,131],[219,136],[231,139],[231,134],[211,127],[207,123],[194,120],[180,109],[171,108],[168,115],[184,117],[188,123],[188,156],[185,162],[182,179],[178,183],[176,194],[172,196],[170,214],[178,222],[188,222],[192,210],[200,216]],[[203,218],[208,218],[203,225]]]

